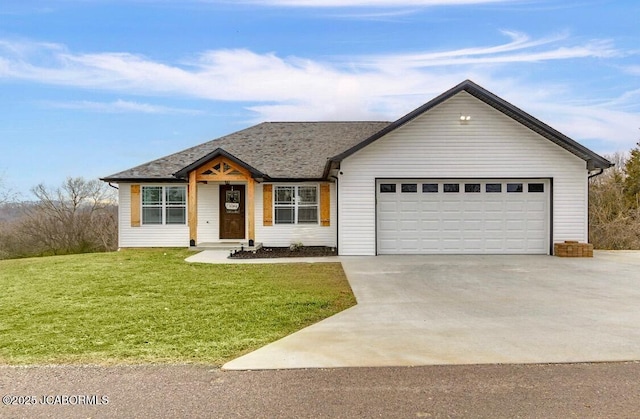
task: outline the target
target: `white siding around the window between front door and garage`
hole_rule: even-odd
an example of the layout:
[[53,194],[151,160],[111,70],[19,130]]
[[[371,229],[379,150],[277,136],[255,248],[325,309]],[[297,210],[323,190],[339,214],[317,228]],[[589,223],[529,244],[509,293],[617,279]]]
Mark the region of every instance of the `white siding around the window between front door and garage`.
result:
[[[274,187],[279,184],[273,184]],[[282,185],[291,185],[289,183]],[[319,185],[318,183],[296,183],[296,185]],[[256,185],[256,241],[264,246],[285,247],[292,243],[302,243],[305,246],[335,247],[336,238],[336,188],[331,184],[331,225],[273,224],[265,226],[263,221],[262,184]],[[318,194],[320,190],[318,189]]]

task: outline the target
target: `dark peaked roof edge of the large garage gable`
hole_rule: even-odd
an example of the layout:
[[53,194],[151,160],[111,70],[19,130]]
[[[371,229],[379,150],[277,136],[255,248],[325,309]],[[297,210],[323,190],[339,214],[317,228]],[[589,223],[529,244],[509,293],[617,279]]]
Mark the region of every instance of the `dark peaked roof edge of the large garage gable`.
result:
[[475,84],[471,80],[465,80],[464,82],[462,82],[459,85],[453,87],[452,89],[444,92],[443,94],[441,94],[440,96],[432,99],[431,101],[425,103],[424,105],[420,106],[419,108],[415,109],[414,111],[409,112],[408,114],[406,114],[402,118],[398,119],[397,121],[389,124],[389,126],[387,126],[386,128],[382,129],[381,131],[375,133],[371,137],[365,139],[361,143],[356,144],[355,146],[351,147],[350,149],[348,149],[348,150],[346,150],[346,151],[344,151],[344,152],[332,157],[330,159],[330,163],[328,163],[326,168],[325,168],[325,173],[328,173],[328,170],[329,170],[330,167],[336,166],[344,158],[346,158],[346,157],[358,152],[359,150],[361,150],[362,148],[368,146],[369,144],[373,143],[374,141],[376,141],[376,140],[384,137],[385,135],[389,134],[390,132],[402,127],[403,125],[405,125],[408,122],[414,120],[415,118],[417,118],[418,116],[422,115],[423,113],[429,111],[430,109],[433,109],[434,107],[440,105],[444,101],[452,98],[453,96],[455,96],[458,93],[463,92],[463,91],[469,93],[470,95],[472,95],[474,97],[476,97],[477,99],[479,99],[482,102],[486,103],[487,105],[493,107],[494,109],[502,112],[506,116],[508,116],[511,119],[513,119],[513,120],[519,122],[520,124],[526,126],[527,128],[529,128],[532,131],[538,133],[539,135],[545,137],[546,139],[552,141],[553,143],[555,143],[558,146],[564,148],[565,150],[571,152],[572,154],[580,157],[581,159],[583,159],[584,161],[587,162],[587,169],[588,170],[606,169],[606,168],[612,166],[612,163],[609,162],[604,157],[594,153],[593,151],[591,151],[588,148],[584,147],[583,145],[577,143],[576,141],[572,140],[571,138],[567,137],[566,135],[564,135],[564,134],[560,133],[559,131],[551,128],[549,125],[541,122],[540,120],[538,120],[538,119],[534,118],[533,116],[529,115],[528,113],[524,112],[520,108],[517,108],[516,106],[514,106],[514,105],[510,104],[509,102],[507,102],[506,100],[501,99],[500,97],[494,95],[493,93],[489,92],[488,90],[480,87],[479,85]]

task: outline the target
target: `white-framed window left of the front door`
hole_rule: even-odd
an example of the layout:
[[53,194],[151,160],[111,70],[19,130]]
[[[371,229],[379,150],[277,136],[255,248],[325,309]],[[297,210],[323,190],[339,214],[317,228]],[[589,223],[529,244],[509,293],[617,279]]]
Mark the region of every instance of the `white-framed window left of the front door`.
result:
[[186,224],[187,188],[184,186],[143,186],[142,224]]

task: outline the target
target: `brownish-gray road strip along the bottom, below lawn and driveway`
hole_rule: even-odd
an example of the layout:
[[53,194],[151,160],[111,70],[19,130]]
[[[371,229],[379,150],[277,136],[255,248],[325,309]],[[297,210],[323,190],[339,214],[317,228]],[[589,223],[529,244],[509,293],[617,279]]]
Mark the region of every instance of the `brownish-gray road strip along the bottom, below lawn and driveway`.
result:
[[[3,402],[37,401],[3,404],[0,417],[631,418],[640,417],[639,376],[637,362],[243,372],[0,367]],[[99,403],[87,405],[94,395]]]

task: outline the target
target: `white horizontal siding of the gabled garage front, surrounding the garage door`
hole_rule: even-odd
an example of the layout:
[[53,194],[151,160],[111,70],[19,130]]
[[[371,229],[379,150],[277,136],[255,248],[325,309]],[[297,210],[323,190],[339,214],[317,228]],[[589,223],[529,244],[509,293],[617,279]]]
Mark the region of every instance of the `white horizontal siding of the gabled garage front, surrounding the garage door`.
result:
[[553,241],[587,240],[586,163],[466,92],[346,158],[341,172],[341,255],[376,253],[376,178],[551,178]]

